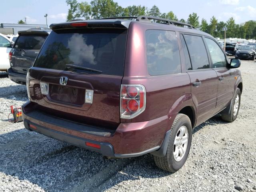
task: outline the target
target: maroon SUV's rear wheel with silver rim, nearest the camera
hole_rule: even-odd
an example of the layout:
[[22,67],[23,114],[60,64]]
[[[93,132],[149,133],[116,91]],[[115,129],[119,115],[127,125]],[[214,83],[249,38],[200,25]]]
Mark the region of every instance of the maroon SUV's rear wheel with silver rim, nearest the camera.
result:
[[[184,130],[184,134],[182,138],[184,138],[184,142],[185,142],[185,138],[187,136],[187,143],[179,145],[180,143],[182,143],[182,140],[178,141],[177,138],[179,138],[180,136],[179,134],[183,132],[183,130]],[[176,145],[174,145],[174,141],[176,142]],[[188,153],[191,147],[191,141],[192,141],[192,126],[191,126],[190,119],[185,114],[179,113],[177,114],[172,124],[166,155],[164,157],[158,157],[153,155],[156,166],[168,172],[178,171],[180,168],[182,168],[182,166],[185,164],[188,158]],[[180,146],[180,150],[178,150],[178,146]],[[186,146],[186,149],[184,148],[185,146]],[[183,155],[181,155],[180,151],[183,151]],[[174,157],[174,152],[175,154],[177,154],[178,152],[178,157],[177,155],[176,157]]]

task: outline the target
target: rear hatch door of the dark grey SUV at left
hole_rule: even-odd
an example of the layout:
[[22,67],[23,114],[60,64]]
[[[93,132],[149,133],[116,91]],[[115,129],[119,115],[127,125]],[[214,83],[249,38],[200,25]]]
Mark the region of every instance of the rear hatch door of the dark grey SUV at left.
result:
[[30,32],[20,34],[12,50],[11,66],[14,72],[27,73],[47,36],[47,33],[31,34]]

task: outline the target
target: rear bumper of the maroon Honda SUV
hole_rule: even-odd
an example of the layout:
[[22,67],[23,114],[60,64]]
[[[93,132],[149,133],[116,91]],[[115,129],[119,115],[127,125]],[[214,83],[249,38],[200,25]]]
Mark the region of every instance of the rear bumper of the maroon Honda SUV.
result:
[[[28,130],[114,158],[141,156],[160,149],[173,119],[164,116],[147,122],[120,123],[115,131],[108,131],[36,111],[31,102],[22,106],[22,117]],[[85,142],[98,144],[100,149],[86,146]]]

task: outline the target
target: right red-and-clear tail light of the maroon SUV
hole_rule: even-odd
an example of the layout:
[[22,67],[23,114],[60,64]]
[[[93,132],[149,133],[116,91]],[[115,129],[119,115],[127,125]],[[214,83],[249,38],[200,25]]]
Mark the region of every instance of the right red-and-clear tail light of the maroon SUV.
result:
[[132,119],[146,108],[146,89],[143,85],[121,85],[120,118]]

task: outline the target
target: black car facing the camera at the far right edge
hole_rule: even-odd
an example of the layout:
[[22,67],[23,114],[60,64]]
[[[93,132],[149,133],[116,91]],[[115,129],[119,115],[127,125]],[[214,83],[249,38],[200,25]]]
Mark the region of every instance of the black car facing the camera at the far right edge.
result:
[[254,45],[242,45],[240,46],[239,50],[236,52],[237,59],[255,59],[256,56],[256,49]]

